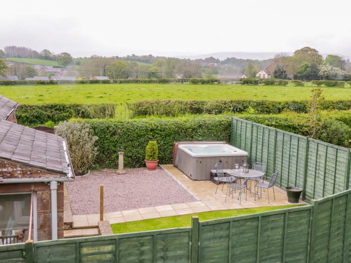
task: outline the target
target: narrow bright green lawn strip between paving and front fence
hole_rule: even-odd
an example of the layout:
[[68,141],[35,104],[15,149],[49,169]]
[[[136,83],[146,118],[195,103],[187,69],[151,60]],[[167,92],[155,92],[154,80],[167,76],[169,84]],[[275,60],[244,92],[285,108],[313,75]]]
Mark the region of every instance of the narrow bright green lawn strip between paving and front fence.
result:
[[192,216],[199,216],[200,221],[216,219],[216,218],[224,218],[230,216],[237,216],[243,214],[252,214],[257,212],[271,211],[289,207],[300,206],[298,205],[281,205],[281,206],[264,206],[264,207],[256,207],[256,208],[246,208],[246,209],[229,209],[229,210],[218,210],[218,211],[210,211],[210,212],[202,212],[202,213],[194,213],[194,214],[186,214],[186,215],[177,215],[177,216],[168,216],[168,217],[160,217],[153,219],[145,219],[139,221],[131,221],[125,223],[116,223],[111,224],[113,233],[129,233],[129,232],[138,232],[138,231],[149,231],[156,229],[166,229],[173,227],[187,227],[191,226]]

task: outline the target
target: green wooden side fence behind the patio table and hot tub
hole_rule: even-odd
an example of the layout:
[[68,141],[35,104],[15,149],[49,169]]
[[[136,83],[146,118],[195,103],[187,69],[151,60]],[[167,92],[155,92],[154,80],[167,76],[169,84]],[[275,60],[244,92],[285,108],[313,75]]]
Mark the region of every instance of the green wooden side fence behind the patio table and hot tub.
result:
[[347,148],[235,117],[231,144],[247,151],[251,163],[265,163],[268,175],[279,171],[279,187],[303,188],[303,198],[321,198],[349,188]]

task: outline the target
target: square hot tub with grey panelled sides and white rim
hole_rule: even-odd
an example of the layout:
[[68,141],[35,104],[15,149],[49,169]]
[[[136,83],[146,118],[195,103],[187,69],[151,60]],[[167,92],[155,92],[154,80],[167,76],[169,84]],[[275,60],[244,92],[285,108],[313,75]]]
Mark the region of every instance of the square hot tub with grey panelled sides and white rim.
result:
[[247,162],[247,152],[229,144],[181,144],[178,146],[176,163],[178,169],[193,180],[210,180],[211,169],[222,162],[224,169]]

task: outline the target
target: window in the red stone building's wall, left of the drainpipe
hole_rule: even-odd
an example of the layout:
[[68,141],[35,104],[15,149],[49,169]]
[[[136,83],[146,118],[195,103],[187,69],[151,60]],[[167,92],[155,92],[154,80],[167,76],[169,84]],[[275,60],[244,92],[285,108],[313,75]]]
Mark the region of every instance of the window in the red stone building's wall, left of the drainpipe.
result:
[[0,245],[27,240],[30,213],[30,193],[0,194]]

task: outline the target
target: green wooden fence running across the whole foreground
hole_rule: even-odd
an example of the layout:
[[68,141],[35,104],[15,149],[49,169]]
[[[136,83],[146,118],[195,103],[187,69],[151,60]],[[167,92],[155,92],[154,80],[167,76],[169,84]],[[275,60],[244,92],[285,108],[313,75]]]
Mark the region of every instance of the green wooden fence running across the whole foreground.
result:
[[186,228],[4,245],[5,262],[351,262],[351,190]]

